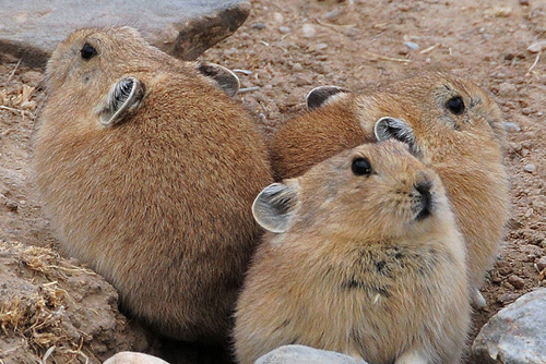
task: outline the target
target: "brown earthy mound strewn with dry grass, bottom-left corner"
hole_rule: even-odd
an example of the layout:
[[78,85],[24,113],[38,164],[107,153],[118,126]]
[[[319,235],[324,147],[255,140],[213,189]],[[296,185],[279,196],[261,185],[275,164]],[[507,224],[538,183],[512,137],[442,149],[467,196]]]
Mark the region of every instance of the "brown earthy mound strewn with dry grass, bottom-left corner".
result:
[[117,304],[95,272],[52,250],[0,240],[0,362],[99,364],[119,350],[147,350],[146,331]]

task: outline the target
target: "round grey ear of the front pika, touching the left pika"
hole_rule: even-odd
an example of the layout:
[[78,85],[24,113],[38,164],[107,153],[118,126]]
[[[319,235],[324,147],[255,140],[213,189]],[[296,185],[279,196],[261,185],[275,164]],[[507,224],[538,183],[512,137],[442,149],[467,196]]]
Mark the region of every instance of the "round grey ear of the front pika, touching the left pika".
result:
[[298,202],[297,182],[273,183],[263,189],[252,204],[256,221],[271,232],[288,230]]

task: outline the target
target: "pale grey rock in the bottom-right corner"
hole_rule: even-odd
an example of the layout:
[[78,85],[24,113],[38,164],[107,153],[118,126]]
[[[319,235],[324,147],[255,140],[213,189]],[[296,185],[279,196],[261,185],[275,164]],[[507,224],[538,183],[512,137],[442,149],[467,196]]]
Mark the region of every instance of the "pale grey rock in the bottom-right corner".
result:
[[546,289],[527,293],[502,308],[472,345],[476,363],[546,363]]

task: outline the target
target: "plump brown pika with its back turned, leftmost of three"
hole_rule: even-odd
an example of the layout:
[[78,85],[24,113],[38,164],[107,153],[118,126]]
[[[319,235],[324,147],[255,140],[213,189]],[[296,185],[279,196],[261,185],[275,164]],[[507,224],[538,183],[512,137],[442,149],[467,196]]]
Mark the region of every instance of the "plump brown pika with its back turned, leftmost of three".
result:
[[223,342],[273,181],[238,80],[131,27],[76,31],[46,74],[33,165],[60,247],[158,332]]

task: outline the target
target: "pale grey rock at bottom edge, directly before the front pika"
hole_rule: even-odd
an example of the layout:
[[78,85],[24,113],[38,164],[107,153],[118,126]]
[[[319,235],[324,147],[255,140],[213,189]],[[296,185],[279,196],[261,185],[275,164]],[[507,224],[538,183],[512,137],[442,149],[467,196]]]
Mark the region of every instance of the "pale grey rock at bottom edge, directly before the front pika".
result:
[[285,345],[258,359],[254,364],[367,364],[333,351],[304,345]]

